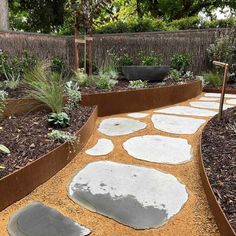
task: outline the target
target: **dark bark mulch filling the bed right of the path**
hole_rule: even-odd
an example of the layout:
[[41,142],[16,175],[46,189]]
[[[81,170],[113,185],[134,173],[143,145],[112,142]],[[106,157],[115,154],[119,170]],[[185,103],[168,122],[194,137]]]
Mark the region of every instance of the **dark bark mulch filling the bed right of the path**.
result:
[[217,198],[236,231],[236,108],[214,117],[202,134],[204,166]]

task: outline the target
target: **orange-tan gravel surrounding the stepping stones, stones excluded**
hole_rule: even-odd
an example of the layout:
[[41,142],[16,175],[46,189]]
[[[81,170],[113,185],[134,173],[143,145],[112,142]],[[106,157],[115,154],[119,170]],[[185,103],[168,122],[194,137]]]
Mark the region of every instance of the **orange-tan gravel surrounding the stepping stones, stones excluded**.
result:
[[[182,104],[188,105],[189,101]],[[153,114],[152,110],[146,112]],[[126,114],[120,114],[113,117],[127,116]],[[104,118],[97,120],[97,125],[102,119]],[[99,132],[95,132],[85,149],[82,150],[63,170],[58,172],[49,181],[39,186],[27,197],[11,205],[0,213],[1,236],[8,235],[6,227],[10,216],[12,216],[18,209],[26,206],[32,201],[40,201],[49,207],[59,210],[61,213],[73,220],[87,226],[92,230],[92,236],[219,236],[218,228],[206,200],[199,171],[199,138],[203,126],[195,135],[174,135],[156,130],[151,123],[150,116],[139,120],[146,122],[148,127],[131,135],[107,137]],[[165,136],[186,138],[192,145],[193,159],[185,164],[166,165],[145,162],[129,156],[122,148],[123,142],[128,138],[146,134],[162,134]],[[115,144],[113,152],[102,157],[91,157],[86,155],[84,151],[92,147],[97,142],[98,138],[102,137],[109,138],[113,141]],[[67,196],[66,190],[68,183],[76,172],[81,170],[88,163],[97,160],[111,160],[119,163],[151,167],[173,174],[186,185],[189,199],[183,209],[176,216],[172,217],[165,225],[158,229],[135,230],[112,219],[90,212],[71,201]]]

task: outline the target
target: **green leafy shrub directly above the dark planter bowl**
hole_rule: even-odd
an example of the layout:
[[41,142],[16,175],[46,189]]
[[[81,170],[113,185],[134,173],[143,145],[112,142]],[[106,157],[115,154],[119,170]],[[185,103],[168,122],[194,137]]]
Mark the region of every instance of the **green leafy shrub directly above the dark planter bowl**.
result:
[[163,55],[156,54],[154,51],[151,51],[150,54],[144,54],[144,52],[141,51],[139,52],[139,60],[141,65],[159,66],[163,61]]

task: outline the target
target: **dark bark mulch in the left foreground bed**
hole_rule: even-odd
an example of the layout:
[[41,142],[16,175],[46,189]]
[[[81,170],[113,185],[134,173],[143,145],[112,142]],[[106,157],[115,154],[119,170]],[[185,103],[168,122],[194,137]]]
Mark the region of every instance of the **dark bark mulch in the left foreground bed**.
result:
[[[93,110],[93,107],[75,108],[68,113],[70,126],[61,130],[75,134]],[[47,116],[46,111],[37,111],[0,119],[0,144],[4,144],[11,151],[9,155],[0,153],[0,166],[5,167],[0,169],[0,178],[24,167],[61,144],[47,138],[51,130]]]

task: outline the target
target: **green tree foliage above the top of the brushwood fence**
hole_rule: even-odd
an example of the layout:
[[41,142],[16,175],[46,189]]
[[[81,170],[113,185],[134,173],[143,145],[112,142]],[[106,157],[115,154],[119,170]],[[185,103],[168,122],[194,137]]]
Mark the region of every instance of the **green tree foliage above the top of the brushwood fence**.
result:
[[218,7],[236,10],[235,0],[9,0],[11,28],[71,34],[74,5],[80,12],[80,28],[87,32],[97,25],[128,22],[134,17],[141,23],[144,18],[171,22],[202,10],[210,14]]

